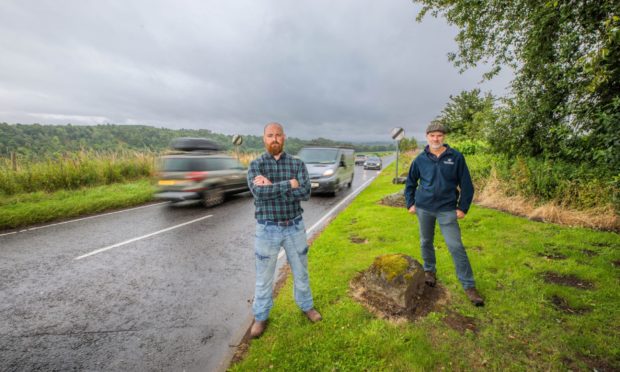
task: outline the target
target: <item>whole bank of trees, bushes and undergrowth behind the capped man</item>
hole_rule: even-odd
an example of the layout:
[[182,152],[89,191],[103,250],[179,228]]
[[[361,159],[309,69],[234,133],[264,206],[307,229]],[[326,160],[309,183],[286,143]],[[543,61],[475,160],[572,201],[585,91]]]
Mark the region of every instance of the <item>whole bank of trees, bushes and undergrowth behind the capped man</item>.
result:
[[509,66],[510,93],[450,97],[439,115],[465,152],[484,154],[508,194],[620,213],[620,2],[414,0],[418,15],[458,29],[449,54],[492,78]]

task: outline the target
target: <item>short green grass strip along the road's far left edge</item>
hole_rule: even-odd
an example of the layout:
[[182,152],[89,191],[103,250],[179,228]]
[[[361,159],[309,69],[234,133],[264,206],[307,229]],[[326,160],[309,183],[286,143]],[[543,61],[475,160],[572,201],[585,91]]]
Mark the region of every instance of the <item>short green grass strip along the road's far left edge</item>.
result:
[[0,196],[0,230],[144,204],[153,196],[150,180],[53,193]]

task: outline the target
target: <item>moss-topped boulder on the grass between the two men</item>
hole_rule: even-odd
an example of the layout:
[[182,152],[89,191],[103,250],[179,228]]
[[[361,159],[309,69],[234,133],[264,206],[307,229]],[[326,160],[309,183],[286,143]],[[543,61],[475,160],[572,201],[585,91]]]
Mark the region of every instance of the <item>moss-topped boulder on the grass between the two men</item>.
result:
[[391,301],[403,311],[414,311],[424,293],[424,269],[404,254],[387,254],[375,258],[360,276],[367,291]]

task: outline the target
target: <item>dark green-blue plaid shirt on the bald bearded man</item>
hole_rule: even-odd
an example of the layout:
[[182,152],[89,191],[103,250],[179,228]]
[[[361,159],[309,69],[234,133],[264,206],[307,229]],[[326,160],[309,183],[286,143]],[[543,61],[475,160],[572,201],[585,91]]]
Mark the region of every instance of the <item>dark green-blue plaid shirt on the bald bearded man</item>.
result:
[[[256,176],[264,176],[272,185],[256,186]],[[293,189],[290,180],[296,179],[299,187]],[[276,160],[268,152],[250,163],[248,186],[254,195],[257,220],[283,221],[301,216],[300,201],[310,199],[310,177],[306,165],[300,159],[282,152]]]

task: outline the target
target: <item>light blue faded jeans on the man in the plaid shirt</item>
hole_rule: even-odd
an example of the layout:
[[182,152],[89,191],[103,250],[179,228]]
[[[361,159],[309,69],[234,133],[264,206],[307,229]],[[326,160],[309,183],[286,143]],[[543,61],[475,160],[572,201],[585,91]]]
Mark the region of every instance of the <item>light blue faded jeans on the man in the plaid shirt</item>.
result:
[[314,307],[310,279],[308,277],[308,242],[302,219],[289,226],[256,224],[256,289],[252,311],[256,320],[269,317],[273,307],[273,281],[280,247],[284,247],[286,259],[291,266],[294,280],[294,295],[302,311]]

